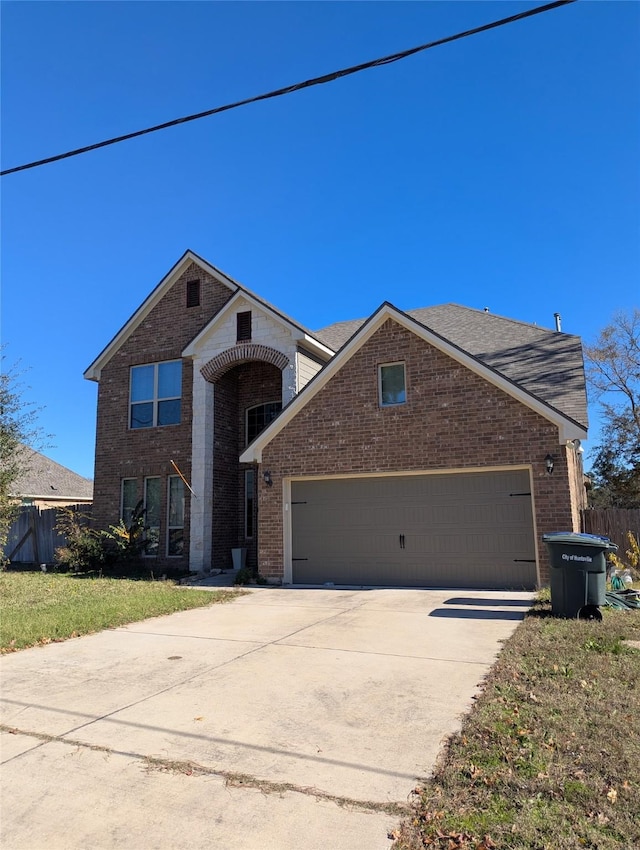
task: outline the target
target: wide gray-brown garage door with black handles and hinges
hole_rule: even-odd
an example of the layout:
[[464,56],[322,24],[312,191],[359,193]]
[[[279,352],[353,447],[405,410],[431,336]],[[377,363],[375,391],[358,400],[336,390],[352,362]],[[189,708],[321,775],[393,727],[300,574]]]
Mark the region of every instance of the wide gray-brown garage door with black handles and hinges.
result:
[[533,587],[529,474],[294,481],[293,581]]

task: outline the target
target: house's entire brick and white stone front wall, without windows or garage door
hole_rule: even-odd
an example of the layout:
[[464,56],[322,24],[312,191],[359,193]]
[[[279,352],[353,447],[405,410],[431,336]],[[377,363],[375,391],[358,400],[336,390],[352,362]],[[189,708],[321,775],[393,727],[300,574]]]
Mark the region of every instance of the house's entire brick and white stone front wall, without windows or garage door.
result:
[[[239,463],[246,448],[246,410],[272,401],[286,406],[328,355],[321,346],[315,354],[302,349],[300,328],[250,293],[223,283],[224,276],[218,280],[198,262],[182,273],[179,269],[175,282],[165,279],[157,303],[143,307],[137,326],[107,350],[108,358],[96,361],[101,364],[97,528],[118,522],[123,479],[135,479],[142,498],[145,478],[158,477],[161,527],[154,564],[228,568],[231,550],[245,547],[249,566],[280,581],[285,479],[526,466],[533,481],[540,575],[546,581],[541,535],[578,529],[586,498],[581,457],[560,444],[557,424],[389,319],[264,448],[261,466]],[[187,307],[188,284],[196,279],[200,303]],[[247,311],[251,338],[238,341],[236,314]],[[182,357],[183,351],[188,356]],[[169,360],[182,360],[180,423],[131,429],[131,367]],[[378,366],[397,361],[406,364],[407,401],[382,408]],[[95,371],[89,374],[97,377]],[[545,470],[547,454],[555,458],[553,475]],[[179,557],[167,555],[168,478],[176,474],[171,461],[197,494],[193,499],[185,493]],[[245,473],[251,468],[257,498],[254,535],[247,538]],[[262,480],[264,470],[271,474],[271,487]]]

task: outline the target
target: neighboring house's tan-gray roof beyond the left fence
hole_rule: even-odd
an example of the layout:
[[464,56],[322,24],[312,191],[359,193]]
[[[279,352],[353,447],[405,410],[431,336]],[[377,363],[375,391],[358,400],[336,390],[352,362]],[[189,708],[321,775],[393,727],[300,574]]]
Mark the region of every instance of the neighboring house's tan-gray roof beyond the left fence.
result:
[[12,496],[78,502],[93,499],[93,481],[90,478],[83,478],[27,446],[23,451],[26,471],[13,483]]

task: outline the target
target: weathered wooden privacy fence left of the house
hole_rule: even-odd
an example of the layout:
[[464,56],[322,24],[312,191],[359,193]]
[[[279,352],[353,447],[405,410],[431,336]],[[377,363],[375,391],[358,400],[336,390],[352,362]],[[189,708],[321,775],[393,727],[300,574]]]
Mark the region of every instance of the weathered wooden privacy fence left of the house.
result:
[[[91,513],[91,505],[71,505],[65,510]],[[4,556],[13,564],[51,564],[55,550],[66,539],[58,534],[56,525],[61,508],[38,508],[25,505],[9,529]]]

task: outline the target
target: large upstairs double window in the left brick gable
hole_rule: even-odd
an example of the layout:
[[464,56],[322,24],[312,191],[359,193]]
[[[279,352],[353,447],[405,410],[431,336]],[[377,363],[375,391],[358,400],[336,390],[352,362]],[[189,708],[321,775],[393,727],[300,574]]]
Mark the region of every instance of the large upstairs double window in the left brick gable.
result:
[[129,427],[155,428],[180,424],[182,361],[131,368]]

